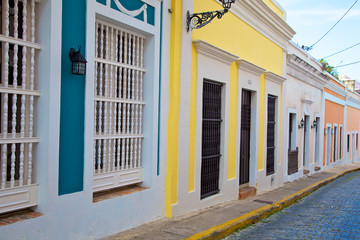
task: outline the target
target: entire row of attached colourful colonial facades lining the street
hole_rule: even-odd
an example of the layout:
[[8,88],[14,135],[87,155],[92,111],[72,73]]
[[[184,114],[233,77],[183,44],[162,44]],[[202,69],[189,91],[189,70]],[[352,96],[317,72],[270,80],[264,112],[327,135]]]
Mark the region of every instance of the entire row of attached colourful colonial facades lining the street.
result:
[[0,3],[0,217],[30,210],[3,238],[101,238],[359,159],[360,96],[274,0],[199,29],[222,1]]

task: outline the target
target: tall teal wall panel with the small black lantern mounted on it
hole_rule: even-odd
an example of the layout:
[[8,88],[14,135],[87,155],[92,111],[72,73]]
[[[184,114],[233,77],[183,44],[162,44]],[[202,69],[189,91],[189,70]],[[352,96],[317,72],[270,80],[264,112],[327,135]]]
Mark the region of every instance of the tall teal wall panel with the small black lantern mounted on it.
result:
[[85,56],[86,0],[63,0],[59,195],[82,191],[85,76],[71,74],[70,48]]

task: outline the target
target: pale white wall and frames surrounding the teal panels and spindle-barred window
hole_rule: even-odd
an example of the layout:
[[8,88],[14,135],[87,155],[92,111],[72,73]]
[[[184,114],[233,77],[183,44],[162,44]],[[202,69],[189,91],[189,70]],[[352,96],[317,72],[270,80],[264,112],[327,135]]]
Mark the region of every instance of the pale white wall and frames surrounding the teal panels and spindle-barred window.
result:
[[[150,66],[147,76],[155,83],[159,79],[160,50],[160,1],[151,1],[156,8],[155,26],[134,20],[132,17],[114,13],[110,9],[100,7],[96,1],[87,2],[87,55],[88,69],[94,69],[94,39],[96,12],[112,18],[113,23],[131,26],[149,36],[148,55],[145,63]],[[84,190],[77,193],[58,196],[59,172],[59,126],[60,126],[60,83],[61,83],[61,22],[62,1],[43,0],[38,8],[38,41],[42,46],[38,57],[37,76],[41,97],[38,100],[37,135],[40,143],[36,154],[36,182],[39,184],[38,207],[36,211],[43,216],[19,221],[7,226],[0,226],[1,239],[96,239],[129,229],[143,223],[165,216],[165,149],[160,148],[160,174],[157,171],[157,104],[159,89],[154,84],[151,98],[154,111],[150,125],[144,127],[146,137],[152,144],[150,154],[145,156],[143,186],[148,189],[93,203],[93,96],[94,71],[86,76],[86,113],[85,113],[85,156],[84,156]],[[164,39],[163,63],[168,64],[170,17],[167,9],[169,2],[164,2]],[[168,76],[168,67],[163,67],[163,77]],[[146,86],[145,86],[146,87]],[[166,88],[166,81],[162,81]],[[167,109],[167,92],[162,92],[163,108]],[[161,112],[166,119],[167,112]],[[161,121],[163,129],[167,129],[166,120]],[[150,130],[154,133],[150,134]],[[166,141],[166,132],[161,132],[161,142]],[[162,144],[166,146],[166,144]]]

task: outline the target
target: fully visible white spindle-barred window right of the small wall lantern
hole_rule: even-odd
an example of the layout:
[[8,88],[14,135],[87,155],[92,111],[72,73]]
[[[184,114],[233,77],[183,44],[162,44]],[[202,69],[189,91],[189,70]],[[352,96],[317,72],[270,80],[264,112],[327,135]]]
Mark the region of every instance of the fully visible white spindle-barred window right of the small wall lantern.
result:
[[95,191],[141,181],[144,41],[96,21],[94,176],[112,177],[95,178]]

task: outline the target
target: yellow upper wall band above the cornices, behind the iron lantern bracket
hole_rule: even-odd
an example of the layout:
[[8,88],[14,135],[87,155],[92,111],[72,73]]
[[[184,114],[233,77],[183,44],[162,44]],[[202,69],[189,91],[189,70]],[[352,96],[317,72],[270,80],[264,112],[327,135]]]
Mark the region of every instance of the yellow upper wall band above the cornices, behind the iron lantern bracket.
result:
[[[194,12],[221,9],[214,0],[194,1]],[[216,47],[246,59],[282,76],[282,49],[231,12],[192,31],[193,39],[202,39]]]

